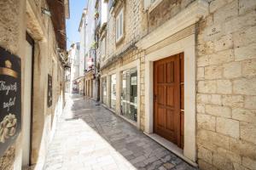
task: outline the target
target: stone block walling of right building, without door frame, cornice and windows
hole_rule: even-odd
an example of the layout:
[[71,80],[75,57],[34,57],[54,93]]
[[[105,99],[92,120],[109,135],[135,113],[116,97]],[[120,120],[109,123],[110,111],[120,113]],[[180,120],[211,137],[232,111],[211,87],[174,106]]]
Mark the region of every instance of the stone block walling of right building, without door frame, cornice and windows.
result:
[[[107,59],[103,59],[102,65],[193,2],[163,0],[153,10],[143,11],[142,1],[125,1],[125,38],[119,44],[115,43],[114,14],[122,4],[116,4],[116,9],[108,15]],[[207,0],[207,3],[209,14],[196,24],[195,33],[197,162],[201,169],[207,170],[253,170],[256,168],[256,1]],[[143,51],[124,54],[104,68],[102,75],[133,59],[140,59],[143,130]]]

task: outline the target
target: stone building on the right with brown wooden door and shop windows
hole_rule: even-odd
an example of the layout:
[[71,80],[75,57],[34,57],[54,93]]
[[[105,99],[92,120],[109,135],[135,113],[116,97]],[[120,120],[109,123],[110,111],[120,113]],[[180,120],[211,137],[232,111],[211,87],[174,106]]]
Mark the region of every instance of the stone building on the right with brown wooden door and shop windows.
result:
[[255,8],[108,0],[96,31],[103,105],[201,169],[255,169]]

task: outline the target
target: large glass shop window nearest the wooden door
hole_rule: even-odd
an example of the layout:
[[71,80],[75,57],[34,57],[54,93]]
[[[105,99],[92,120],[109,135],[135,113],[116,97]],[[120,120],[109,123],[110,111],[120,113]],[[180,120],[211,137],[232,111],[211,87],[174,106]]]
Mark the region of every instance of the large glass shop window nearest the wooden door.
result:
[[137,122],[137,69],[123,71],[121,115]]

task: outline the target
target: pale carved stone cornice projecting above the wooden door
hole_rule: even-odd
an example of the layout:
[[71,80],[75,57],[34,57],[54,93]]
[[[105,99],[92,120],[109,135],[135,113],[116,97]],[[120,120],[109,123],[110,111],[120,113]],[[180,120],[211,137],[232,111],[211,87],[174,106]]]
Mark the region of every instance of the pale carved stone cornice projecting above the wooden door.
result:
[[206,0],[196,0],[187,8],[184,8],[180,13],[172,17],[172,19],[167,20],[166,23],[159,26],[154,31],[149,32],[136,43],[137,48],[149,48],[157,42],[172,36],[178,31],[195,24],[208,14],[208,6],[209,3],[207,3]]

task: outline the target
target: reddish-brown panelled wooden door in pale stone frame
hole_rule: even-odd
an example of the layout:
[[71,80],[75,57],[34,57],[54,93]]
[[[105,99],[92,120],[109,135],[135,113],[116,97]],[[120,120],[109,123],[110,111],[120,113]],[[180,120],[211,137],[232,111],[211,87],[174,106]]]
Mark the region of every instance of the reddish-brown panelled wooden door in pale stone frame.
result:
[[183,54],[154,62],[154,133],[183,148]]

